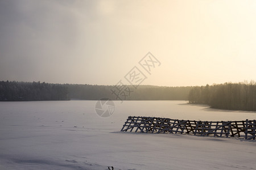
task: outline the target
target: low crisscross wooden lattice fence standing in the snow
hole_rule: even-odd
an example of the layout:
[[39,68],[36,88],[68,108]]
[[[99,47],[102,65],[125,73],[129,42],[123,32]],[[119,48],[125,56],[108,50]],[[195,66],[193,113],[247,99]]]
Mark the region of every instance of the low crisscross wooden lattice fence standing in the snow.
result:
[[190,121],[160,117],[129,116],[121,131],[243,137],[255,140],[256,120]]

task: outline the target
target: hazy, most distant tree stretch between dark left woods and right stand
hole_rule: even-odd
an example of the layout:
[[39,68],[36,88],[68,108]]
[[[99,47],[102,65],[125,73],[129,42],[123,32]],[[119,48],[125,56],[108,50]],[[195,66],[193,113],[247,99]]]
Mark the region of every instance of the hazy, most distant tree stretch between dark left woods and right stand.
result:
[[[160,87],[141,85],[133,86],[97,86],[89,84],[65,84],[71,99],[99,100],[188,100],[188,93],[192,87]],[[127,91],[125,88],[129,89]],[[118,94],[118,90],[122,92]],[[115,92],[113,92],[115,91]],[[124,92],[126,91],[126,94]],[[126,96],[125,96],[126,95]]]

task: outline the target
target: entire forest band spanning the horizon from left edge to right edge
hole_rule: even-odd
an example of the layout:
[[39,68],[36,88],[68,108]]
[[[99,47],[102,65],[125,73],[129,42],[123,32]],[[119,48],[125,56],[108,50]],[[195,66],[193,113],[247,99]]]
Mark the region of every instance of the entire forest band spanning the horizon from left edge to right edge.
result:
[[209,86],[99,86],[0,81],[0,101],[39,100],[188,100],[212,108],[256,111],[256,83],[224,83]]

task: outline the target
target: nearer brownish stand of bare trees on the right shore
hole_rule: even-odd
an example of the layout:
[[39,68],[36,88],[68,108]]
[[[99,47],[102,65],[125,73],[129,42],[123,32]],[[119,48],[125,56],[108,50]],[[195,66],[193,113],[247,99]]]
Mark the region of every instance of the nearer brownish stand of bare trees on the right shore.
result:
[[189,91],[189,103],[208,104],[212,108],[256,111],[256,83],[224,83],[197,86]]

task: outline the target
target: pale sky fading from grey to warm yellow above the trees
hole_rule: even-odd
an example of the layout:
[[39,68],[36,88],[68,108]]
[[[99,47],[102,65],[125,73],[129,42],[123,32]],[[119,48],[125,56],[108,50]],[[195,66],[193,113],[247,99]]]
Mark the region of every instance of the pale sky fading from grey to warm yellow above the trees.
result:
[[0,0],[0,80],[129,84],[134,67],[155,86],[256,80],[255,30],[256,1]]

